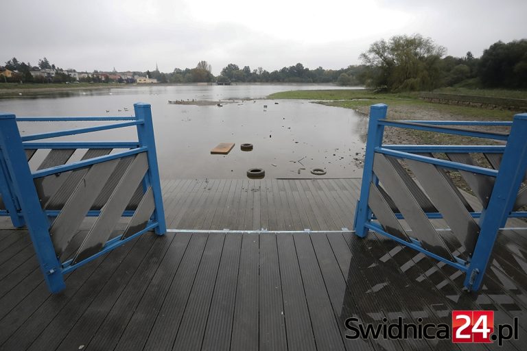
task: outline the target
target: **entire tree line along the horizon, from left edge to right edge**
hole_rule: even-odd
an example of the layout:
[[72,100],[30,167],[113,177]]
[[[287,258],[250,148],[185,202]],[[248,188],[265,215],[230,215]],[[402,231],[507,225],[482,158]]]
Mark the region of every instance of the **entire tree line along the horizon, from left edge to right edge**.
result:
[[[465,86],[469,88],[527,88],[527,39],[510,43],[498,41],[475,58],[471,51],[461,58],[445,56],[446,49],[436,45],[431,38],[421,34],[393,36],[389,40],[378,40],[360,55],[362,64],[342,69],[309,69],[301,63],[267,71],[261,66],[238,66],[230,63],[220,75],[212,74],[211,64],[200,61],[194,68],[176,68],[170,73],[155,71],[133,72],[147,75],[161,83],[334,83],[342,86],[367,86],[387,91],[433,90],[443,86]],[[30,62],[19,62],[12,58],[5,68],[17,73],[11,82],[49,82],[49,77],[33,76],[33,69],[56,70],[53,82],[73,80],[62,69],[51,64],[47,58],[38,60],[38,66]],[[106,75],[106,78],[108,75]],[[4,77],[4,80],[7,79]],[[86,82],[111,82],[102,80],[94,71]],[[132,82],[117,80],[116,82]]]

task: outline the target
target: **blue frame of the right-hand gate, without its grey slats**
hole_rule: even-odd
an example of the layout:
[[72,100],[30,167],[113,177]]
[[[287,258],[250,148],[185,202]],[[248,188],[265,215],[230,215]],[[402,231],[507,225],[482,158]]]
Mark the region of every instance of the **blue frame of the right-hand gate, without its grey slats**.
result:
[[[390,239],[412,247],[438,261],[456,267],[467,274],[464,286],[469,291],[477,291],[482,284],[485,270],[489,263],[493,245],[500,228],[503,228],[508,218],[527,217],[527,212],[513,211],[517,194],[527,169],[527,114],[516,114],[513,121],[390,121],[386,119],[388,106],[377,104],[371,106],[370,120],[368,124],[368,137],[366,142],[366,155],[364,160],[364,173],[360,199],[355,211],[354,229],[359,237],[366,237],[368,230],[373,230]],[[467,130],[458,126],[509,126],[510,133],[485,132],[479,130]],[[454,134],[458,136],[470,136],[475,138],[486,138],[495,141],[506,141],[506,145],[383,145],[384,128],[406,128],[426,132]],[[443,160],[432,157],[432,153],[441,154],[502,154],[499,169],[489,169],[478,165],[470,165],[454,160]],[[423,154],[428,154],[423,155]],[[369,201],[371,201],[371,186],[379,187],[379,178],[374,171],[375,157],[388,156],[390,159],[413,160],[428,165],[434,165],[435,169],[447,169],[451,171],[466,171],[475,176],[489,177],[493,183],[491,195],[487,206],[481,211],[467,210],[471,218],[479,219],[479,232],[476,243],[469,250],[468,257],[460,258],[453,255],[441,256],[437,252],[431,252],[424,247],[424,241],[419,240],[419,232],[412,232],[412,237],[401,238],[390,232],[388,226],[383,226],[378,221],[379,216],[373,214]],[[415,165],[415,163],[414,163]],[[419,163],[417,164],[419,165]],[[386,175],[383,175],[386,176]],[[383,185],[384,186],[384,185]],[[390,193],[390,189],[385,189]],[[427,189],[423,189],[426,193]],[[378,197],[377,197],[378,198]],[[380,200],[381,202],[384,200]],[[388,208],[386,206],[377,208]],[[407,213],[408,214],[408,213]],[[441,212],[423,213],[428,219],[444,218]],[[386,218],[386,217],[385,217]],[[404,219],[397,210],[393,210],[393,218]],[[389,218],[388,218],[389,219]],[[408,234],[408,232],[406,233]],[[440,241],[441,242],[441,241]]]

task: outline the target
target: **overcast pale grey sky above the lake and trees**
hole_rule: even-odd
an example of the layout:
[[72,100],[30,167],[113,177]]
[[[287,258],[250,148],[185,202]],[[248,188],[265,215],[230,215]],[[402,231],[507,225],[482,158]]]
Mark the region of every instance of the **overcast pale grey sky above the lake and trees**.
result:
[[527,0],[10,1],[0,64],[47,57],[78,71],[172,72],[200,60],[268,71],[358,64],[371,43],[420,33],[452,56],[527,38]]

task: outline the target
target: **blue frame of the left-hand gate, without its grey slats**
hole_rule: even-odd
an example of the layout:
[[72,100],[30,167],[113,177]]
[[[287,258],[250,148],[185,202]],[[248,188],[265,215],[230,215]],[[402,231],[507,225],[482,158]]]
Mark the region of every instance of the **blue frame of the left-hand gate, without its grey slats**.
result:
[[[54,293],[65,288],[63,275],[67,274],[69,271],[72,271],[73,269],[76,269],[88,263],[89,261],[92,261],[98,256],[101,256],[102,254],[105,254],[106,252],[123,245],[124,243],[147,232],[148,230],[154,230],[156,234],[159,235],[162,235],[166,232],[163,199],[161,197],[161,183],[159,180],[159,169],[156,157],[156,145],[154,140],[154,128],[152,124],[152,112],[150,110],[150,105],[134,104],[134,112],[134,117],[16,118],[14,114],[0,114],[0,194],[2,202],[5,206],[5,210],[0,210],[0,215],[10,216],[15,227],[22,227],[24,225],[27,226],[47,285]],[[36,123],[41,121],[123,122],[21,136],[17,125],[18,121],[30,121]],[[132,126],[137,128],[137,141],[41,141],[45,138],[71,136],[75,134],[99,132],[102,130],[111,130]],[[125,151],[115,152],[114,154],[107,154],[93,158],[86,158],[86,160],[70,162],[32,172],[25,155],[25,150],[28,149],[125,149]],[[134,216],[139,213],[139,207],[143,203],[143,200],[145,200],[147,195],[150,195],[149,198],[153,197],[152,201],[154,204],[154,209],[152,210],[152,215],[150,215],[150,212],[148,212],[149,207],[144,205],[146,210],[144,210],[145,212],[142,215],[146,214],[150,217],[149,220],[147,219],[148,222],[145,223],[144,228],[137,228],[137,232],[134,232],[135,227],[131,228],[131,232],[126,235],[126,238],[121,234],[113,239],[109,239],[102,244],[102,247],[100,247],[97,252],[90,254],[87,257],[86,252],[89,252],[89,250],[86,252],[81,252],[81,254],[78,252],[75,255],[75,258],[82,256],[82,260],[80,261],[75,261],[75,258],[67,258],[64,262],[60,262],[60,254],[56,253],[57,249],[54,246],[54,242],[51,240],[50,222],[52,221],[52,218],[60,216],[62,210],[47,210],[43,208],[44,204],[40,203],[34,180],[36,178],[43,179],[49,175],[58,176],[69,171],[87,169],[88,167],[103,164],[104,162],[117,162],[113,160],[123,160],[128,156],[135,157],[139,156],[140,154],[146,155],[143,160],[145,159],[145,162],[148,163],[148,169],[145,169],[144,175],[141,173],[143,199],[141,199],[141,202],[137,205],[135,210],[124,210],[121,216],[132,217],[133,221]],[[115,165],[113,167],[115,167]],[[123,180],[123,182],[126,182],[124,178],[119,179]],[[120,182],[119,179],[118,181]],[[139,180],[139,178],[135,179]],[[111,195],[114,195],[114,193],[111,193]],[[109,201],[109,199],[107,200]],[[121,202],[121,204],[124,204],[124,202]],[[66,205],[67,204],[64,206]],[[75,205],[73,204],[73,206]],[[84,215],[84,217],[100,217],[102,216],[103,212],[104,208],[101,208],[100,210],[88,210],[82,215]],[[115,225],[115,223],[113,223],[113,225]],[[110,234],[111,233],[108,233],[108,237],[110,237]],[[69,244],[69,241],[66,244]],[[89,247],[89,249],[92,250],[92,247]]]

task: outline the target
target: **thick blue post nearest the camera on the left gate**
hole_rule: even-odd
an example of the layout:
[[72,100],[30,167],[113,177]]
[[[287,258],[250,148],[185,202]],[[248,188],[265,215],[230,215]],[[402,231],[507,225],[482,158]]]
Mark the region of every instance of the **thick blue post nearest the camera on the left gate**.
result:
[[0,148],[10,175],[13,191],[30,232],[40,269],[53,293],[65,289],[60,262],[49,236],[49,222],[45,215],[33,183],[30,166],[16,125],[14,114],[0,114]]

